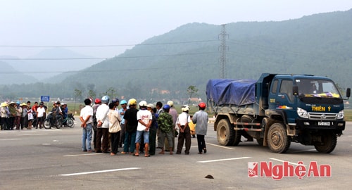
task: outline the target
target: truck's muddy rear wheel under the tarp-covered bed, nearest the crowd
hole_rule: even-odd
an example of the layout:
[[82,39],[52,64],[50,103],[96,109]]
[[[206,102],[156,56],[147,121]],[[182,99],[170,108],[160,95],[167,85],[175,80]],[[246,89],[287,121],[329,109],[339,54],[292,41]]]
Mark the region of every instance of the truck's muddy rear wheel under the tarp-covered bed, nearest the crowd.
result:
[[[238,132],[238,131],[237,131]],[[222,146],[236,146],[234,144],[234,136],[236,131],[233,129],[229,120],[222,119],[218,123],[218,128],[216,129],[216,136],[218,137],[218,143]],[[241,136],[240,136],[241,137]]]

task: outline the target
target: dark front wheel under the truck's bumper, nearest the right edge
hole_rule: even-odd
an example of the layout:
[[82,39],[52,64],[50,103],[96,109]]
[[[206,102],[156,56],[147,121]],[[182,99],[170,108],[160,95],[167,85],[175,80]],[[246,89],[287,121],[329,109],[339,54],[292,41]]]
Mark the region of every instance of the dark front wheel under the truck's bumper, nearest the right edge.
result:
[[331,153],[337,145],[337,136],[334,133],[322,134],[322,141],[315,143],[315,149],[320,153]]

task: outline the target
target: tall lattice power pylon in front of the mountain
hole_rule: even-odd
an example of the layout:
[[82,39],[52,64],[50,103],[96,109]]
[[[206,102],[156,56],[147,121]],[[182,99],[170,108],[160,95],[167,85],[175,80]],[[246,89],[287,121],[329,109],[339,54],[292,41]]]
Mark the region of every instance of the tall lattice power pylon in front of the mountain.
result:
[[226,38],[229,37],[229,35],[226,33],[226,24],[221,25],[222,30],[221,33],[219,34],[219,39],[221,40],[220,44],[220,79],[225,79],[226,77],[226,61],[227,61],[227,56],[226,56],[226,51],[227,51],[227,45],[226,45]]

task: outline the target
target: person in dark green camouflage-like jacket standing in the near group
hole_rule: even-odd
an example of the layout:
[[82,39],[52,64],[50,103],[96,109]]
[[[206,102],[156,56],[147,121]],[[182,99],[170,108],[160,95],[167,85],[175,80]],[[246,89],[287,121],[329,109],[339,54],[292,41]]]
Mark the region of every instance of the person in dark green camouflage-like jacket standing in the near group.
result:
[[168,139],[168,148],[170,151],[170,154],[172,154],[172,139],[175,139],[175,137],[172,134],[172,116],[169,114],[170,106],[166,104],[163,107],[163,112],[159,115],[158,117],[158,128],[160,129],[160,134],[158,137],[158,144],[159,147],[161,147],[161,152],[160,154],[165,153],[164,149],[164,141],[165,139]]

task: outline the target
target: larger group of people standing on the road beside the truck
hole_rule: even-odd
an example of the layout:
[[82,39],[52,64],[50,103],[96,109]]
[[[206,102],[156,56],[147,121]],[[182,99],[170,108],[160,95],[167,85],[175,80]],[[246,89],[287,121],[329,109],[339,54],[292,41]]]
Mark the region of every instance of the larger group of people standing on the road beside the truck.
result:
[[[119,99],[110,100],[108,96],[101,99],[84,100],[84,108],[80,113],[82,127],[82,151],[89,153],[110,153],[115,156],[121,149],[121,154],[150,157],[169,152],[171,155],[182,153],[189,155],[191,137],[197,138],[198,153],[206,153],[205,135],[208,128],[206,103],[199,103],[199,111],[189,115],[189,106],[182,106],[180,115],[172,101],[152,103],[136,99],[128,102]],[[121,108],[118,108],[118,106]],[[193,117],[192,117],[193,116]],[[190,127],[195,126],[193,133]],[[177,128],[179,132],[177,132]],[[194,129],[193,129],[194,130]],[[175,138],[178,142],[175,145]],[[92,146],[93,144],[93,146]]]

